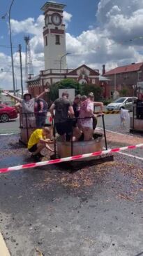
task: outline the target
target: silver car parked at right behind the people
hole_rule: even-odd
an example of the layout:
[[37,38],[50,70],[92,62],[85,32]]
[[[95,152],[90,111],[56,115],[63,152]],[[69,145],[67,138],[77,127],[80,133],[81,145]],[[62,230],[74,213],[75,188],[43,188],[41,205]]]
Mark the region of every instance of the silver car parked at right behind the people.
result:
[[135,102],[137,97],[119,97],[114,102],[107,105],[107,110],[120,110],[121,107],[123,109],[128,109],[133,111],[133,101]]

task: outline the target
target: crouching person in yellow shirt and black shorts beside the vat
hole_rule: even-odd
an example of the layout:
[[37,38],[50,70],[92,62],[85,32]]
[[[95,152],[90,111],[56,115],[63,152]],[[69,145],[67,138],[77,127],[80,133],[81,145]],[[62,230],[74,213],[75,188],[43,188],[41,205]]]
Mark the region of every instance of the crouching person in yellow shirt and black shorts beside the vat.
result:
[[49,144],[52,143],[53,142],[50,140],[50,129],[48,127],[36,129],[31,134],[28,142],[28,150],[32,153],[31,157],[35,160],[41,159],[43,155],[40,154],[40,151],[44,148],[53,152],[54,150],[49,146]]

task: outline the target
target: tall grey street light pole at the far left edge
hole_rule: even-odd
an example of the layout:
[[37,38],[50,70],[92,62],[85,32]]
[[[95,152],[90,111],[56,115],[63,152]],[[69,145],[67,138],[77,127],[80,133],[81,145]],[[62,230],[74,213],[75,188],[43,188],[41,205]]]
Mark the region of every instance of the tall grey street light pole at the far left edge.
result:
[[12,74],[13,74],[13,92],[14,92],[14,95],[16,94],[15,93],[15,72],[14,72],[14,65],[13,65],[13,43],[12,43],[12,37],[11,37],[11,24],[10,24],[10,14],[11,14],[11,8],[13,6],[13,2],[15,0],[13,0],[10,4],[10,8],[9,8],[9,11],[8,13],[6,13],[5,15],[2,16],[2,19],[5,19],[6,18],[6,15],[8,15],[8,23],[9,23],[9,29],[10,29],[10,51],[11,51],[11,65],[12,65]]

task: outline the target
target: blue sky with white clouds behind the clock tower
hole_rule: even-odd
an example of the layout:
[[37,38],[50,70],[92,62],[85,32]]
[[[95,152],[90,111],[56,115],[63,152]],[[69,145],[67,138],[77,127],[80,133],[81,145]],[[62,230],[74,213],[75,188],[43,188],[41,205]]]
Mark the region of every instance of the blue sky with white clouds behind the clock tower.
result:
[[[0,88],[12,89],[10,36],[8,15],[11,0],[0,1]],[[40,8],[44,0],[15,0],[10,23],[13,41],[13,60],[17,88],[20,88],[20,58],[22,45],[23,76],[25,67],[24,36],[30,36],[34,75],[44,69],[43,25]],[[142,62],[143,57],[143,0],[57,0],[66,4],[63,18],[66,23],[68,68],[86,64],[102,72],[114,67]],[[2,70],[2,71],[1,71]]]

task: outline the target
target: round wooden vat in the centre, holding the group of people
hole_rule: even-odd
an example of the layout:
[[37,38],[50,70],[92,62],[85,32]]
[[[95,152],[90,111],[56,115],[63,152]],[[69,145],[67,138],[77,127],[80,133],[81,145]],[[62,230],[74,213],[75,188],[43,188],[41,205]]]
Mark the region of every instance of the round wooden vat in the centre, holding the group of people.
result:
[[[81,141],[81,142],[73,142],[73,156],[79,154],[88,154],[93,153],[96,151],[103,150],[103,135],[102,134],[95,134],[94,140],[90,141]],[[64,158],[71,156],[71,142],[63,142],[61,138],[57,138],[57,154],[59,158]],[[93,158],[90,159],[94,159]],[[89,160],[89,158],[85,159]]]

